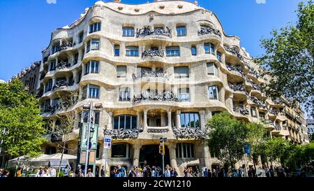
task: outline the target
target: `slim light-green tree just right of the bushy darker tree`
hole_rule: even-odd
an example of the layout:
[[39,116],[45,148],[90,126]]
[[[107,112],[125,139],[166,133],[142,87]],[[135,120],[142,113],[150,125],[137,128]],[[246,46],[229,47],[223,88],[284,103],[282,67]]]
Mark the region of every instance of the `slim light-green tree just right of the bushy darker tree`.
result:
[[264,155],[264,143],[267,141],[267,129],[262,123],[250,122],[247,125],[247,142],[251,146],[251,157],[253,159],[254,169],[256,170],[256,161],[259,155]]

